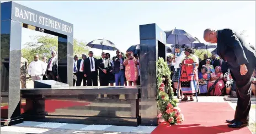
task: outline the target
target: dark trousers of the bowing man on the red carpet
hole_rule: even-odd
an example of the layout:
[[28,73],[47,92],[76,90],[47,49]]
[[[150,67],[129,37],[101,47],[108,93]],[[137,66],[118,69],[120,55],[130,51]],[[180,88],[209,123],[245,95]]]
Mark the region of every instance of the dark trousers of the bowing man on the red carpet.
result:
[[240,74],[240,66],[230,68],[231,76],[236,82],[237,107],[234,114],[234,120],[249,122],[249,111],[252,97],[252,75],[255,69],[255,62],[247,64],[248,72],[246,75]]

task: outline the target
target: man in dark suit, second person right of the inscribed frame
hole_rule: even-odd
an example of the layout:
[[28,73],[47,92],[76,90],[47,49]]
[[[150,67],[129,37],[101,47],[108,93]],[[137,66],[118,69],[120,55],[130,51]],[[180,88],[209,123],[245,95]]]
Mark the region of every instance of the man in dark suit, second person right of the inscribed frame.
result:
[[77,86],[81,86],[83,81],[83,86],[87,86],[86,78],[83,75],[84,68],[84,60],[86,59],[86,55],[82,54],[82,59],[77,60]]

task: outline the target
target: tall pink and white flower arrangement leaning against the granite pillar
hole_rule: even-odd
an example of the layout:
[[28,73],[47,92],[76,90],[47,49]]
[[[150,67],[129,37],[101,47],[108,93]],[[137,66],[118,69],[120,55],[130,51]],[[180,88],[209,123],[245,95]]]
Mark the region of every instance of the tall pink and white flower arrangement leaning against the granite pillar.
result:
[[[158,114],[158,122],[168,122],[169,124],[182,124],[184,120],[183,114],[177,107],[177,101],[174,99],[172,89],[172,80],[170,80],[170,70],[163,58],[157,62],[157,105],[160,113]],[[161,119],[163,118],[163,119]]]

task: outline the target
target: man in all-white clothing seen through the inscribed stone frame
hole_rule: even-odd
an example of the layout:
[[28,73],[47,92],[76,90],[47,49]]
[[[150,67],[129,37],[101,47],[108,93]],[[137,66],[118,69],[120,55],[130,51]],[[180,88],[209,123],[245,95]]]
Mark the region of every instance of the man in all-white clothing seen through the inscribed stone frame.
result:
[[42,80],[42,76],[45,74],[45,65],[39,60],[39,55],[35,55],[34,61],[29,64],[28,74],[33,81]]

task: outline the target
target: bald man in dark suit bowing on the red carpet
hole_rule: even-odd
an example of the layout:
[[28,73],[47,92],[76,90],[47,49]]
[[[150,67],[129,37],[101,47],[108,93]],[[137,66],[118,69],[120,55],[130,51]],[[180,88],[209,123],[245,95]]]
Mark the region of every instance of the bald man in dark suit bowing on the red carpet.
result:
[[251,83],[255,69],[255,51],[231,29],[204,31],[206,42],[217,43],[217,54],[228,63],[231,76],[236,81],[237,107],[233,120],[226,120],[228,127],[248,126],[251,103]]

